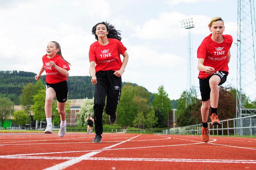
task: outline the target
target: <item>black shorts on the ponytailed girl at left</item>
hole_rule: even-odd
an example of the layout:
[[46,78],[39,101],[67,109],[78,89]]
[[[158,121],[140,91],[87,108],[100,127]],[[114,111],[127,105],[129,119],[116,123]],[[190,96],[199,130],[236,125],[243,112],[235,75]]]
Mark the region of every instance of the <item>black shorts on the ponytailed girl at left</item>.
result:
[[49,87],[54,89],[58,102],[64,103],[68,100],[68,83],[67,83],[67,81],[61,81],[61,82],[55,83],[55,84],[46,83],[46,86],[45,86],[46,90]]

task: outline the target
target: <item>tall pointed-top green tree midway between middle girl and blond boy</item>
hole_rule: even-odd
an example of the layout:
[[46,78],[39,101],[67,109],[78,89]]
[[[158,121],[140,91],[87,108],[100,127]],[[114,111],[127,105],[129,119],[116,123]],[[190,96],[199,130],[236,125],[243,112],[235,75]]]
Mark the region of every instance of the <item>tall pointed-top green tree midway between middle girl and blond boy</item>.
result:
[[158,88],[158,93],[153,94],[152,106],[156,108],[161,108],[163,110],[163,115],[159,115],[158,125],[160,127],[165,127],[167,122],[168,114],[172,111],[171,100],[168,94],[164,90],[164,86]]

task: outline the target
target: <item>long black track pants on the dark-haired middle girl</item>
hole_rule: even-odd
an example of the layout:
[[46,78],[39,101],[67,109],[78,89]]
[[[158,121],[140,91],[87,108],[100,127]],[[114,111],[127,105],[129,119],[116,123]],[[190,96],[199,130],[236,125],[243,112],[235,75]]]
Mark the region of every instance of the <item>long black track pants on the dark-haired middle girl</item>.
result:
[[94,92],[94,123],[95,133],[103,133],[102,114],[107,96],[105,112],[108,115],[114,115],[119,103],[122,79],[114,75],[113,70],[98,71],[96,73],[97,84]]

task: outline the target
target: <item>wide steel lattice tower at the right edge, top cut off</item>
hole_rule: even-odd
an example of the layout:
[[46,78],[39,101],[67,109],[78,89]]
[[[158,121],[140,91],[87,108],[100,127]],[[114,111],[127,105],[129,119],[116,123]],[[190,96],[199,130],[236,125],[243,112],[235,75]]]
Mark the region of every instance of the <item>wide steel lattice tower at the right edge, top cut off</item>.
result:
[[254,0],[238,0],[237,7],[236,117],[243,117],[256,114],[247,108],[256,99]]

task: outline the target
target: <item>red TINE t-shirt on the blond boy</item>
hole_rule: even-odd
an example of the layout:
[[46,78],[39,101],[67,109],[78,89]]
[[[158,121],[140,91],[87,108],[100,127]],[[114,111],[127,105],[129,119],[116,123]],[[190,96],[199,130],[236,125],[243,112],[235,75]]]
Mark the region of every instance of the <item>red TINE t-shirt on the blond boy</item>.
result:
[[[207,36],[197,50],[197,58],[204,58],[203,65],[213,67],[215,71],[229,71],[228,51],[232,45],[233,38],[231,35],[222,35],[224,41],[222,43],[214,42],[211,35]],[[207,78],[211,75],[205,71],[199,71],[198,78]]]

